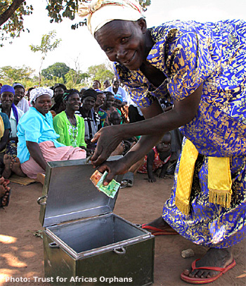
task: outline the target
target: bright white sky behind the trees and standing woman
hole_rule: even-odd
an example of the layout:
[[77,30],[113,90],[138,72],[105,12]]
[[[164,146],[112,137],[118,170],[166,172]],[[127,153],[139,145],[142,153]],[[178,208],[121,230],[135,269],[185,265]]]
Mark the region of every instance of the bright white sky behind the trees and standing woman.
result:
[[[41,53],[32,52],[30,45],[40,45],[41,37],[53,30],[56,38],[62,39],[56,50],[48,52],[42,69],[54,63],[65,63],[68,67],[86,72],[91,65],[108,63],[105,53],[89,33],[87,27],[71,30],[71,25],[83,20],[78,16],[74,21],[65,19],[61,23],[50,23],[46,11],[45,0],[27,0],[27,5],[32,4],[32,15],[24,18],[24,27],[30,30],[22,32],[20,37],[13,39],[13,44],[4,42],[0,48],[0,67],[31,67],[34,74],[38,74]],[[195,20],[198,22],[216,22],[226,19],[246,20],[245,0],[151,0],[151,5],[145,12],[148,27],[160,25],[170,20]]]

